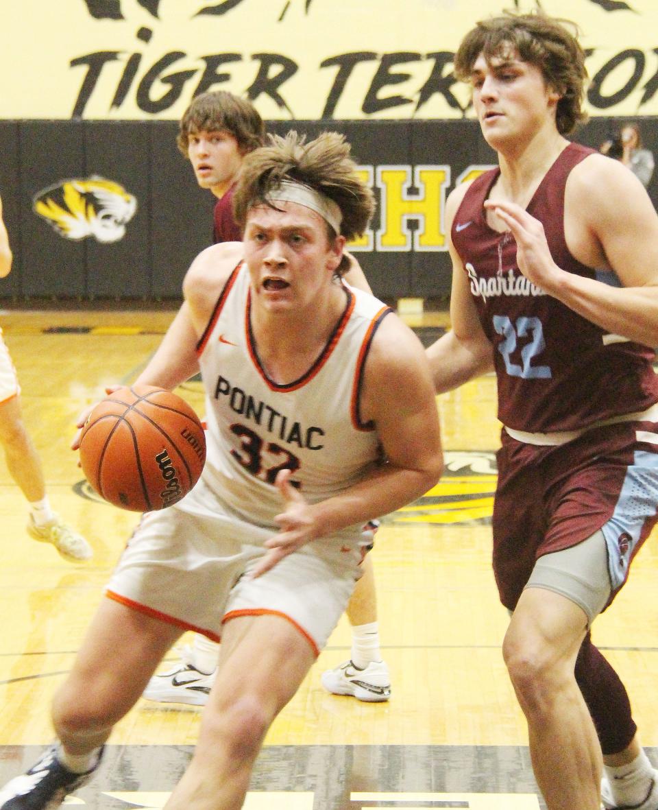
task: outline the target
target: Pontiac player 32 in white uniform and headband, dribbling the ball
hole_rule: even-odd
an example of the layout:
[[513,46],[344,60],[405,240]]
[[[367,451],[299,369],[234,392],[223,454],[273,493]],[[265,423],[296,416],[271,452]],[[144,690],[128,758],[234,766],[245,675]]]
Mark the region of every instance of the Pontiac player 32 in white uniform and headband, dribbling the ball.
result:
[[270,724],[345,610],[364,522],[438,480],[422,345],[340,279],[346,239],[374,208],[349,152],[340,135],[305,144],[293,132],[245,158],[244,242],[193,262],[138,380],[173,389],[201,370],[202,479],[142,518],[55,697],[59,740],[0,790],[0,808],[57,807],[85,782],[184,629],[222,644],[196,751],[166,808],[240,808]]

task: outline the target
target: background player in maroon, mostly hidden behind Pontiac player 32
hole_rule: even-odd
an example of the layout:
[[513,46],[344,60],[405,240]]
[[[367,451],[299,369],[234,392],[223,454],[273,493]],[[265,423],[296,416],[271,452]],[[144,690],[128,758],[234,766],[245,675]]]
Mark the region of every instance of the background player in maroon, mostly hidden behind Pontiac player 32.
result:
[[[265,140],[265,124],[248,100],[226,91],[196,96],[180,119],[176,143],[192,165],[198,184],[212,191],[214,242],[241,241],[242,233],[233,215],[236,190],[244,156]],[[345,279],[353,287],[371,292],[354,257]],[[374,536],[378,522],[364,527],[364,537]],[[322,673],[329,692],[351,695],[360,701],[387,701],[391,677],[380,653],[375,575],[370,556],[361,565],[361,578],[347,606],[352,645],[350,659]],[[180,660],[153,676],[143,697],[157,702],[205,706],[214,683],[219,646],[195,634],[192,646],[184,646]]]

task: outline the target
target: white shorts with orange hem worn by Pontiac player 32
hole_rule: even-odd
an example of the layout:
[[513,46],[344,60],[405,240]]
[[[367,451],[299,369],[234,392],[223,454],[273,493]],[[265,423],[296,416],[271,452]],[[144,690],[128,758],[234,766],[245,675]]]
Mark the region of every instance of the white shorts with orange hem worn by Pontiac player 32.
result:
[[279,615],[319,654],[359,578],[361,530],[314,540],[245,577],[276,531],[236,516],[202,479],[176,505],[143,515],[107,595],[214,641],[234,616]]

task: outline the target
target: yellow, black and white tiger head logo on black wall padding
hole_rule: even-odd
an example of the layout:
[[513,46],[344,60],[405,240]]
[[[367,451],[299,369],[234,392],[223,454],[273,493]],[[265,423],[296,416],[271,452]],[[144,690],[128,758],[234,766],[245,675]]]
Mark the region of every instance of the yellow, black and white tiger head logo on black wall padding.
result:
[[104,177],[63,180],[40,191],[32,210],[65,239],[93,237],[116,242],[137,211],[137,200],[125,188]]

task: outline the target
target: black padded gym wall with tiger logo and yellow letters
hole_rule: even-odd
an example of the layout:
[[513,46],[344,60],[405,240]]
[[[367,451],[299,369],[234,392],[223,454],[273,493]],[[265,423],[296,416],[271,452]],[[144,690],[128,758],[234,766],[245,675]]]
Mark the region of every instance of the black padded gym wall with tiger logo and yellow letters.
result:
[[[655,124],[640,122],[658,154]],[[376,295],[448,296],[445,198],[467,168],[495,163],[476,122],[278,121],[269,129],[308,138],[340,131],[367,167],[378,207],[370,245],[354,252]],[[575,139],[596,148],[618,129],[617,119],[594,118]],[[180,299],[189,263],[212,240],[214,197],[198,188],[176,131],[173,121],[0,122],[0,195],[15,254],[0,298]],[[95,190],[96,181],[109,181],[111,192]],[[656,203],[658,174],[649,193]],[[50,216],[36,213],[35,198]],[[136,201],[129,219],[126,198]],[[112,217],[126,221],[108,232]]]

